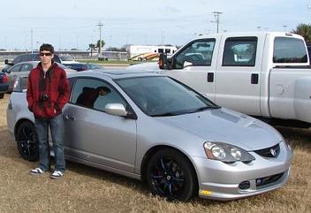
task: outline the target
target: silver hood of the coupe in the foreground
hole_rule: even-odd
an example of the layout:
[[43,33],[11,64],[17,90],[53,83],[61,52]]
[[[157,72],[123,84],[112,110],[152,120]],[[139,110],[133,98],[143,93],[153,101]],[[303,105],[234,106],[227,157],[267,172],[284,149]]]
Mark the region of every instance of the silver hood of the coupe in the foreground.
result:
[[221,141],[247,151],[269,148],[283,141],[272,126],[224,108],[159,119],[204,141]]

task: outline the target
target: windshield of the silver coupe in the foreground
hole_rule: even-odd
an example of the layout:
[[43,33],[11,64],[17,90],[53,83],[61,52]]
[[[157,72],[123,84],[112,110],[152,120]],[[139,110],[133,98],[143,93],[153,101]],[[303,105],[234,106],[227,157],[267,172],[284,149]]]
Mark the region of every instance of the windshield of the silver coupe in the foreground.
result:
[[116,80],[148,116],[176,116],[219,108],[209,99],[165,76]]

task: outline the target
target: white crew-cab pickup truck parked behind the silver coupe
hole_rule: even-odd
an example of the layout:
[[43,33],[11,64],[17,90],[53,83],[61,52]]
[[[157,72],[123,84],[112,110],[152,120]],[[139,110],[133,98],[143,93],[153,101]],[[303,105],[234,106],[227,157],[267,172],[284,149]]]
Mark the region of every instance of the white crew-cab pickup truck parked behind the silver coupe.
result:
[[158,63],[128,69],[157,70],[220,106],[248,115],[283,125],[311,125],[311,69],[306,43],[298,34],[203,35],[169,58],[161,55]]

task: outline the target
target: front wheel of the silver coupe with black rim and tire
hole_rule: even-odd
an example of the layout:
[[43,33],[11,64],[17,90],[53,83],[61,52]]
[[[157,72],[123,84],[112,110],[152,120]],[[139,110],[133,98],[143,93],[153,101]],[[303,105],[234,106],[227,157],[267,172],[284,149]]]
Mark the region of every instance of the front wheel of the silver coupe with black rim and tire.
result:
[[177,150],[165,148],[151,156],[146,182],[152,194],[169,201],[186,202],[197,193],[197,179],[190,161]]

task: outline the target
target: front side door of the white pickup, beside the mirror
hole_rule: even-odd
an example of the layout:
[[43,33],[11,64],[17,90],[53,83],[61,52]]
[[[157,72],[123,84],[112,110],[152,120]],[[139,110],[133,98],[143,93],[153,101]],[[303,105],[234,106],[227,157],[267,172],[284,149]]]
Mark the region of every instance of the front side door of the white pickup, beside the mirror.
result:
[[215,49],[218,48],[218,41],[216,38],[206,38],[189,42],[172,57],[172,69],[162,70],[162,73],[193,87],[214,101]]

